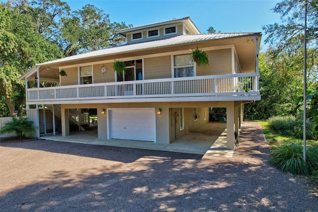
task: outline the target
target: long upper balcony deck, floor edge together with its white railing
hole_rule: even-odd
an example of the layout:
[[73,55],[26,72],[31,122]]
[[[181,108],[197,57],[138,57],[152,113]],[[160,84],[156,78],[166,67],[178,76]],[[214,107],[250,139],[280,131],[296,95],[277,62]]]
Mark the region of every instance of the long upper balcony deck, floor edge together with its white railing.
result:
[[259,73],[27,89],[27,105],[260,100]]

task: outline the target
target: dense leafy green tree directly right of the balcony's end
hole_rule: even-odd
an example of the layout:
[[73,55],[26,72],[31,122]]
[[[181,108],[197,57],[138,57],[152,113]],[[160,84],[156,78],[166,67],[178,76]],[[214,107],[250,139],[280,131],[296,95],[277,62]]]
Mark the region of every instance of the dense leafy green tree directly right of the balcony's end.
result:
[[245,105],[248,118],[269,118],[276,115],[295,114],[294,102],[302,94],[301,67],[295,67],[288,52],[274,57],[272,49],[259,54],[259,90],[261,100]]

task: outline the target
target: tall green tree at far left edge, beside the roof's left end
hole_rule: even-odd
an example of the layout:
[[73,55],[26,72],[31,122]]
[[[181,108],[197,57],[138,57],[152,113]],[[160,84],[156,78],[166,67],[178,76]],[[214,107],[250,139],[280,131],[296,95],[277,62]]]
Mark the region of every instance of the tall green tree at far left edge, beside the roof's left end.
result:
[[11,116],[21,114],[25,99],[24,82],[18,78],[34,64],[61,56],[58,46],[33,26],[30,15],[0,3],[0,90]]

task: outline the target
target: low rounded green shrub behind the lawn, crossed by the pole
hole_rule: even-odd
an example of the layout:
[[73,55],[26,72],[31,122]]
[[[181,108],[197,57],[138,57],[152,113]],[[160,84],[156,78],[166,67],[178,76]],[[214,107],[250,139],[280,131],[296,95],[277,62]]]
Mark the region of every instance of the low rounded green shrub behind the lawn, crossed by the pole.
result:
[[[274,116],[268,119],[269,128],[283,134],[290,135],[295,138],[303,138],[303,120],[295,120],[294,116]],[[313,139],[313,126],[312,120],[307,120],[306,123],[306,138]]]

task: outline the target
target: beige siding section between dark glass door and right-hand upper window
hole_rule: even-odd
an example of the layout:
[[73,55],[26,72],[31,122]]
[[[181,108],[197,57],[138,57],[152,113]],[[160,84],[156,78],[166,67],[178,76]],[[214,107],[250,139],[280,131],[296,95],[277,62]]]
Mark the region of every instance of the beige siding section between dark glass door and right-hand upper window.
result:
[[171,78],[171,56],[146,58],[145,80]]

